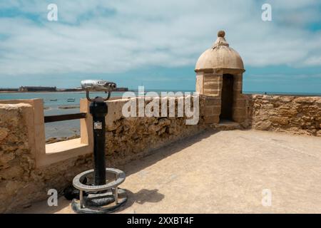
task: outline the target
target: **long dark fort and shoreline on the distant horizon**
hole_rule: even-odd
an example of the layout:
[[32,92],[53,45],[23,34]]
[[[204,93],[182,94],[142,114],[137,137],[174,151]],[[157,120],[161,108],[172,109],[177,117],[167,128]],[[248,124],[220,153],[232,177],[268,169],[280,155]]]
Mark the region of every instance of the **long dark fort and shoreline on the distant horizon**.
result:
[[[82,88],[56,88],[49,86],[20,86],[19,88],[0,88],[0,92],[75,92],[83,91]],[[126,92],[128,88],[116,88],[116,92]]]

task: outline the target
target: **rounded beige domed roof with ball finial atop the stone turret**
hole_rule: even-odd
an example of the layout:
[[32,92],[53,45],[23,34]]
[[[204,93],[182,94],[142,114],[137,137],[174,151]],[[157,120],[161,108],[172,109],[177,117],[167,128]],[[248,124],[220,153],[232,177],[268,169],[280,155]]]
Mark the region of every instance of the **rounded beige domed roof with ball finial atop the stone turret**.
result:
[[200,55],[195,66],[196,72],[215,68],[245,71],[242,58],[237,51],[230,48],[224,36],[225,32],[219,31],[218,38],[212,48],[204,51],[203,54]]

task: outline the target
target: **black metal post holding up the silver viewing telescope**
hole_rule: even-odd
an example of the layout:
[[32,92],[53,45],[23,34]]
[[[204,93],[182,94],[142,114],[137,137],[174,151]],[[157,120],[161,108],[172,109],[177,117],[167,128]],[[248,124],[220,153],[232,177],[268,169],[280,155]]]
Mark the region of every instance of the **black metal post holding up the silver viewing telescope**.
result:
[[106,185],[106,131],[105,116],[108,113],[107,103],[102,98],[95,98],[89,106],[93,115],[93,162],[95,185]]

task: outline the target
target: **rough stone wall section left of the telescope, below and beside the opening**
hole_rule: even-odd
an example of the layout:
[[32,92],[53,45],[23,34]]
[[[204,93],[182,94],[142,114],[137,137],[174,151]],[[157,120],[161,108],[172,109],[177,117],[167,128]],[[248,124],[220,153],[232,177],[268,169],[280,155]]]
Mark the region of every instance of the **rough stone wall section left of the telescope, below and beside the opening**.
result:
[[82,156],[37,169],[27,123],[32,108],[0,104],[0,213],[46,199],[49,189],[63,190],[74,175],[91,167],[91,156]]

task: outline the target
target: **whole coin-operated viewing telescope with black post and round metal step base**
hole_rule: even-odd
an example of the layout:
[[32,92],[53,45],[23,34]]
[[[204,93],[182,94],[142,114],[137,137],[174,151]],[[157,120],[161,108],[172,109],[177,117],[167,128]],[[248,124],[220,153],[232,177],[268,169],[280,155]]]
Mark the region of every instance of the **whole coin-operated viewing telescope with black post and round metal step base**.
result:
[[[81,87],[91,102],[89,111],[93,116],[93,170],[87,170],[73,178],[73,187],[79,190],[79,200],[73,199],[71,207],[78,213],[109,213],[127,201],[126,191],[118,188],[125,181],[123,171],[106,168],[106,130],[105,117],[108,105],[105,102],[116,90],[116,83],[103,80],[84,80]],[[90,92],[108,93],[106,98],[90,98]],[[111,176],[106,180],[106,174]],[[84,194],[85,193],[85,194]]]

